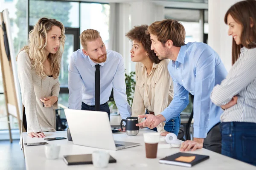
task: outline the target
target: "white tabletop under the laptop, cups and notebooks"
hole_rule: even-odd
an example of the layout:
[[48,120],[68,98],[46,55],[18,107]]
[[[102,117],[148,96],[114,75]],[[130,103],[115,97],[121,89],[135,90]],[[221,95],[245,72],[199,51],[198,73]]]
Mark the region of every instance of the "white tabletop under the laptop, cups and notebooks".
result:
[[[143,133],[150,132],[147,128],[140,129],[137,136],[127,136],[126,133],[114,134],[114,139],[119,141],[137,142],[140,146],[131,147],[123,150],[109,151],[117,163],[108,164],[108,170],[188,170],[187,167],[179,167],[174,165],[160,164],[158,160],[179,152],[178,148],[158,148],[157,159],[147,159],[145,157],[145,144],[143,142]],[[46,132],[46,137],[67,137],[66,131]],[[89,140],[89,139],[88,139]],[[23,143],[31,142],[46,142],[40,138],[30,138],[26,133],[23,133]],[[63,155],[89,154],[94,150],[99,150],[93,147],[84,147],[73,144],[73,142],[64,140],[47,141],[49,144],[61,144],[59,159],[49,160],[44,155],[44,145],[42,146],[24,146],[25,162],[27,170],[99,170],[89,165],[70,165],[68,166],[62,160]],[[102,140],[104,142],[104,139]],[[256,167],[246,164],[226,156],[222,156],[212,151],[201,149],[193,153],[209,155],[210,158],[200,164],[195,165],[191,169],[195,170],[255,170]],[[146,166],[146,167],[143,167]]]

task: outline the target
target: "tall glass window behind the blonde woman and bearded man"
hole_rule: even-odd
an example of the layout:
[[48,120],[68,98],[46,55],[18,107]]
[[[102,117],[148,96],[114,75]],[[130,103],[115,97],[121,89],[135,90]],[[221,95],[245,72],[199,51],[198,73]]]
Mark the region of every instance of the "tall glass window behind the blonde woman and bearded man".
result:
[[[0,6],[1,11],[4,8],[8,8],[9,10],[15,55],[27,44],[28,27],[34,26],[41,17],[55,18],[62,22],[65,28],[68,28],[66,30],[65,49],[59,75],[61,89],[65,90],[67,89],[67,68],[70,56],[73,51],[76,51],[76,46],[80,46],[79,34],[85,29],[96,29],[100,32],[102,40],[105,42],[106,47],[108,47],[110,6],[100,3],[53,0],[29,0],[29,10],[27,5],[28,0],[4,0],[3,6],[2,4]],[[1,93],[3,93],[2,77],[0,77],[0,130],[8,129],[7,118],[5,116],[5,100],[4,95]],[[67,90],[59,95],[58,102],[66,107],[68,106]],[[11,127],[17,128],[17,120],[12,118],[10,120]]]

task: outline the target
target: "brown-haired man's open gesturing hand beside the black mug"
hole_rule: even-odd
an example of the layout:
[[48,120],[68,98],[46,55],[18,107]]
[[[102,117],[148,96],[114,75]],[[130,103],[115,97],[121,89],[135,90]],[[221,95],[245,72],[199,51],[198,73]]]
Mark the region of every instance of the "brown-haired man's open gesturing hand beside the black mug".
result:
[[144,122],[137,123],[136,126],[148,127],[150,129],[157,127],[161,122],[165,121],[164,116],[161,114],[157,116],[154,116],[152,114],[145,114],[145,115],[139,115],[138,117],[146,118],[146,119]]

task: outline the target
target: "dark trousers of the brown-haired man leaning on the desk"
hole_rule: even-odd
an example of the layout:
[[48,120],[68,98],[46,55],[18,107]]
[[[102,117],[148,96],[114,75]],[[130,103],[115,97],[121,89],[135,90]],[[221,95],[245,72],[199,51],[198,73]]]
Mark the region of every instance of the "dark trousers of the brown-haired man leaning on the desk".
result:
[[216,153],[221,153],[221,130],[220,123],[209,130],[204,139],[203,147]]

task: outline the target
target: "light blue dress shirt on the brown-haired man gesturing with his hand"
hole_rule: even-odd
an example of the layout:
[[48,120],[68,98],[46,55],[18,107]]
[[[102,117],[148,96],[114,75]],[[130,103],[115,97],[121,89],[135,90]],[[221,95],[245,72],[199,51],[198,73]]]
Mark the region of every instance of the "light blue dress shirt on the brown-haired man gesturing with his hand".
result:
[[174,82],[174,98],[161,114],[166,121],[178,116],[189,104],[191,93],[194,95],[194,137],[205,138],[220,122],[223,112],[211,102],[210,94],[227,76],[224,64],[209,45],[190,42],[181,46],[177,60],[169,62],[168,71]]

